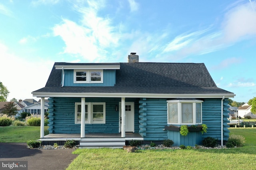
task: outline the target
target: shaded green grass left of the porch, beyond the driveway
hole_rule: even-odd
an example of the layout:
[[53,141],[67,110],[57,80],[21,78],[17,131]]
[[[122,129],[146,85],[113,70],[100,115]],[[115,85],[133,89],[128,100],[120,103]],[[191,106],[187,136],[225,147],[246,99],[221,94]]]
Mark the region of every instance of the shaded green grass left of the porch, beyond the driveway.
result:
[[26,143],[28,140],[38,139],[40,139],[40,126],[0,127],[0,142],[2,143]]

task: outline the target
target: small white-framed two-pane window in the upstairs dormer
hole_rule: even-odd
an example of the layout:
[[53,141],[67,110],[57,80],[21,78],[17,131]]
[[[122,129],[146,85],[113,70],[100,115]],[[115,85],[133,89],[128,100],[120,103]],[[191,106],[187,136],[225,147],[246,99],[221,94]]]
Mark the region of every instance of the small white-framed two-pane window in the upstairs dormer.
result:
[[103,70],[74,70],[74,83],[102,83]]

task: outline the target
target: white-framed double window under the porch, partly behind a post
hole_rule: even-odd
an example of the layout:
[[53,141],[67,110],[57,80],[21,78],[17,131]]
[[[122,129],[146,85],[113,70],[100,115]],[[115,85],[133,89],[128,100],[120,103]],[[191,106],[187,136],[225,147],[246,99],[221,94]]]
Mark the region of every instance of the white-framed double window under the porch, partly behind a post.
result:
[[[81,123],[81,103],[75,103],[75,123]],[[85,121],[87,124],[106,123],[105,103],[85,103]]]

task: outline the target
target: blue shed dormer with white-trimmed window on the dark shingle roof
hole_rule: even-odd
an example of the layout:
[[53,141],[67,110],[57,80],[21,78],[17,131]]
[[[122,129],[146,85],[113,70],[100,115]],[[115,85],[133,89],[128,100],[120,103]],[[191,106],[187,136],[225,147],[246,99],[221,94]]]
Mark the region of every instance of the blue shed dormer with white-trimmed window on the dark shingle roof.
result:
[[55,69],[62,70],[62,87],[114,86],[120,63],[62,63]]

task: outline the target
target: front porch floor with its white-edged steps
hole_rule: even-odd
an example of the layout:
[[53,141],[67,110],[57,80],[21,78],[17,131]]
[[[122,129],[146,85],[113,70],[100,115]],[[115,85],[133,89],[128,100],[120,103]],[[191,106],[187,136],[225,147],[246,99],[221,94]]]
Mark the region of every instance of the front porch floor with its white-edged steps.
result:
[[126,145],[126,141],[138,140],[143,141],[144,138],[139,133],[126,133],[122,137],[121,133],[92,133],[85,134],[85,137],[80,137],[80,134],[49,134],[41,138],[42,145],[64,145],[67,140],[74,139],[79,148],[100,148],[114,147],[121,148]]

